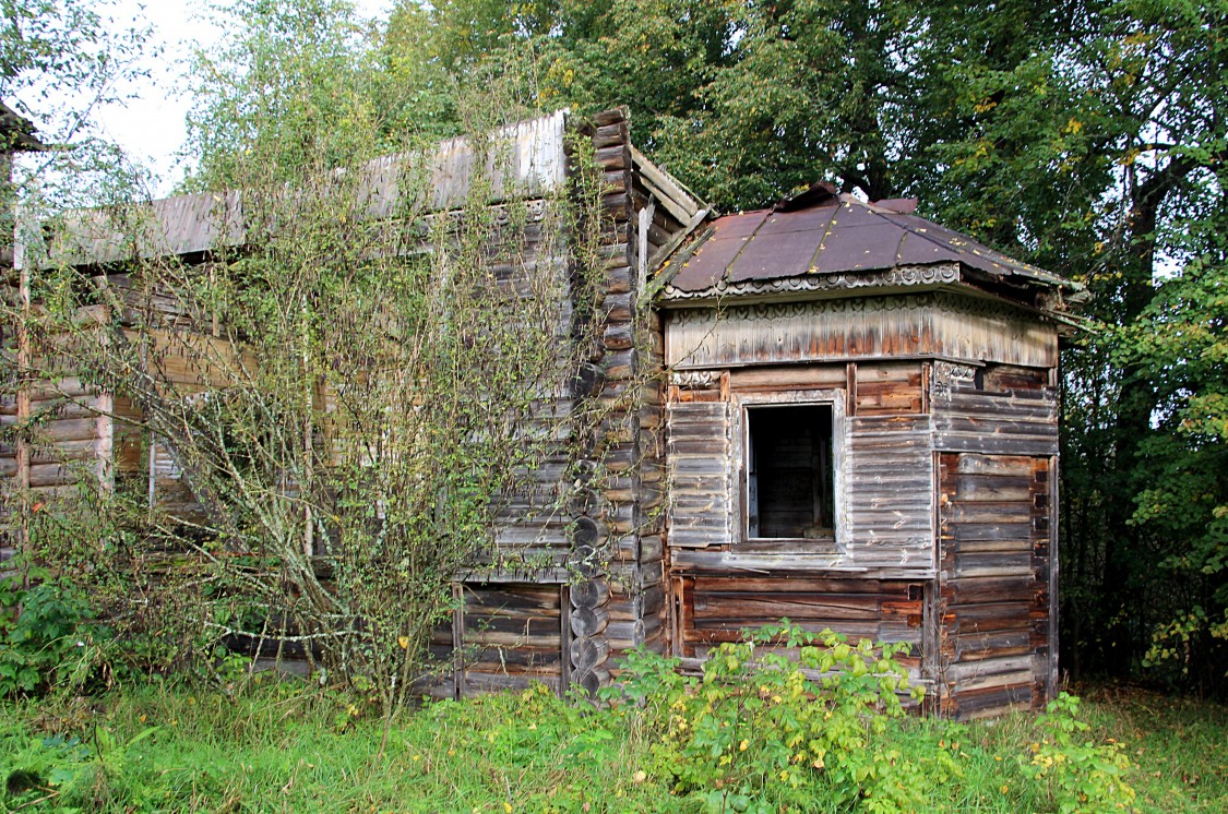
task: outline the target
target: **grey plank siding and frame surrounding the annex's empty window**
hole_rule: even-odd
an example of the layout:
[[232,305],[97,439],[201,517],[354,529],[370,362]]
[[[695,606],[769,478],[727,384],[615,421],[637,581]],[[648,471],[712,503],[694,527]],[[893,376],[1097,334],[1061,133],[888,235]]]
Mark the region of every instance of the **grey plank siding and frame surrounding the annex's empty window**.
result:
[[[933,573],[933,427],[921,411],[925,366],[853,367],[851,395],[845,365],[713,371],[706,388],[670,389],[669,545],[675,566]],[[835,404],[837,413],[851,414],[834,420],[834,538],[748,540],[745,410],[808,403]]]

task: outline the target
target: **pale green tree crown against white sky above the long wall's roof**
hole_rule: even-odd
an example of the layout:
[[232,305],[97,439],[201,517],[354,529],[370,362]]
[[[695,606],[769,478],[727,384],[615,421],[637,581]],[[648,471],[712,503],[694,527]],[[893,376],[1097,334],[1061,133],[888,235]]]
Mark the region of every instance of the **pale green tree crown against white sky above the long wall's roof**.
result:
[[187,150],[189,189],[236,189],[260,176],[298,182],[313,168],[404,149],[391,133],[392,76],[375,70],[370,29],[348,0],[238,0],[219,14],[228,32],[198,54],[198,104]]

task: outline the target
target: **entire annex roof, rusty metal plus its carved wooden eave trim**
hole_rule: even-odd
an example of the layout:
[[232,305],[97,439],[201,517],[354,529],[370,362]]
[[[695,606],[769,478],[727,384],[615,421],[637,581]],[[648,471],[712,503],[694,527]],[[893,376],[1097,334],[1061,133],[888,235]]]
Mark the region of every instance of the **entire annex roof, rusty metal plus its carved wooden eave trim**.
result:
[[770,210],[711,222],[655,279],[658,307],[732,306],[950,290],[1008,302],[1081,329],[1086,290],[911,215],[815,184]]

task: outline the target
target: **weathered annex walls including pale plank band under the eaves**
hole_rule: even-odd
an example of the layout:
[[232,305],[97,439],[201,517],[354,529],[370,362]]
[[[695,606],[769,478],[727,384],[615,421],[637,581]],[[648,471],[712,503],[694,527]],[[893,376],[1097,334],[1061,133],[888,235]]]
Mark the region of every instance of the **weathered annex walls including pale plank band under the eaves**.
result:
[[[991,338],[980,304],[899,300],[667,313],[673,651],[787,616],[907,643],[943,715],[1040,707],[1056,690],[1056,330],[1017,311]],[[868,322],[845,317],[858,308]],[[745,410],[788,401],[835,406],[836,528],[755,540]]]

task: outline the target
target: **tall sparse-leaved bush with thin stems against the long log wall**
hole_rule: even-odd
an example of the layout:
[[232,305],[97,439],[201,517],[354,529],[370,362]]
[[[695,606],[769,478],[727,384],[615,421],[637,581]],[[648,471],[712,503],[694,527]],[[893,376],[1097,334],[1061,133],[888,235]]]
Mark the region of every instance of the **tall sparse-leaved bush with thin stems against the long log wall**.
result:
[[237,165],[242,192],[212,215],[243,239],[203,262],[142,252],[156,225],[115,210],[91,222],[125,247],[118,273],[82,273],[79,219],[48,230],[69,246],[32,285],[36,367],[71,360],[190,492],[171,516],[111,474],[146,508],[141,568],[192,570],[200,626],[295,647],[384,710],[414,692],[458,573],[532,567],[495,530],[566,505],[567,479],[535,471],[566,469],[604,420],[559,408],[599,316],[596,173],[577,145],[567,183],[516,182],[497,124],[468,128],[475,169],[442,210],[436,147],[377,160],[349,134],[341,167]]

